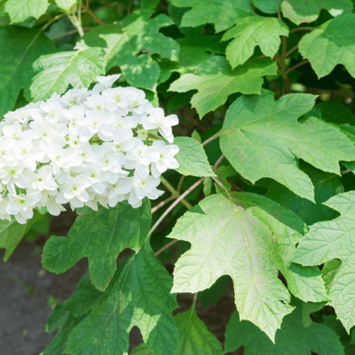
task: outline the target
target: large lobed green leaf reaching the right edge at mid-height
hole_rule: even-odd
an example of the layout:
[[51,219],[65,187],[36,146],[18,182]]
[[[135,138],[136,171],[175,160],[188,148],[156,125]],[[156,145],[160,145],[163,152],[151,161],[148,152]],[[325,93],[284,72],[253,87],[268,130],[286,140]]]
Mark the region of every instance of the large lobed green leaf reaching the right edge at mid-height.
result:
[[312,182],[298,168],[297,158],[340,175],[339,160],[350,161],[355,156],[354,143],[334,127],[318,119],[307,124],[297,121],[314,102],[310,94],[288,94],[275,102],[273,92],[266,90],[240,97],[226,113],[222,152],[251,182],[272,178],[314,202]]

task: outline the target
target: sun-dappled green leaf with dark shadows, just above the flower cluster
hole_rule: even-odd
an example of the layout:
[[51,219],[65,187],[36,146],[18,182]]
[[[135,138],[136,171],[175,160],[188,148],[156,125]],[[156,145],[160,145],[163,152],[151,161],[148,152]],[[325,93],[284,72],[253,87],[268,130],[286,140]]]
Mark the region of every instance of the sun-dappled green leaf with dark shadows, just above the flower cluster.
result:
[[165,14],[150,19],[152,13],[148,10],[134,11],[120,22],[121,26],[99,26],[84,35],[84,40],[92,47],[105,48],[106,70],[119,66],[133,87],[155,92],[160,68],[151,56],[156,53],[177,61],[179,44],[159,32],[160,28],[173,25],[173,21]]

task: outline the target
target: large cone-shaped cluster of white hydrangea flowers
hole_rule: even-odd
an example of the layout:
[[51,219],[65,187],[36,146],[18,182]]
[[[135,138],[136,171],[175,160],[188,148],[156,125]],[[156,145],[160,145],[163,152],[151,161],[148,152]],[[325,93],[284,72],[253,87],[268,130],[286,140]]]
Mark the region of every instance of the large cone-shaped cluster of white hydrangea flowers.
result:
[[141,206],[156,199],[160,174],[178,168],[171,126],[176,115],[155,109],[142,90],[97,77],[91,90],[70,89],[9,112],[0,122],[0,219],[23,224],[35,207],[50,214],[97,202]]

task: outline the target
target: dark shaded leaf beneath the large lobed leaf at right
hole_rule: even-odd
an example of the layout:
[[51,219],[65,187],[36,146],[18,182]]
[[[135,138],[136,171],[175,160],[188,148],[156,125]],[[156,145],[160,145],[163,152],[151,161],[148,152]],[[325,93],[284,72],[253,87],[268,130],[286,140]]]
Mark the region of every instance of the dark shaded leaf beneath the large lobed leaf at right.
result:
[[266,197],[278,202],[281,206],[291,209],[301,217],[307,226],[338,217],[339,213],[325,206],[323,202],[334,195],[344,192],[340,177],[336,174],[324,173],[324,171],[318,170],[312,165],[301,164],[301,162],[300,167],[310,176],[315,187],[315,202],[295,195],[287,187],[271,179],[260,180],[257,185],[267,187]]

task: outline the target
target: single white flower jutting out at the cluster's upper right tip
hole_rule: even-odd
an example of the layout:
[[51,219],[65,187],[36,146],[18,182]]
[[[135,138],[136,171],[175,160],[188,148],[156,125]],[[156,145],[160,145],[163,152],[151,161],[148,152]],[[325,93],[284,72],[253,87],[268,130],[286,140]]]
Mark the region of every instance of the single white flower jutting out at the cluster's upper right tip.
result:
[[163,109],[153,109],[153,113],[148,116],[146,122],[143,123],[144,129],[158,129],[159,133],[169,142],[173,143],[173,131],[171,126],[179,123],[178,116],[170,114],[165,117]]

